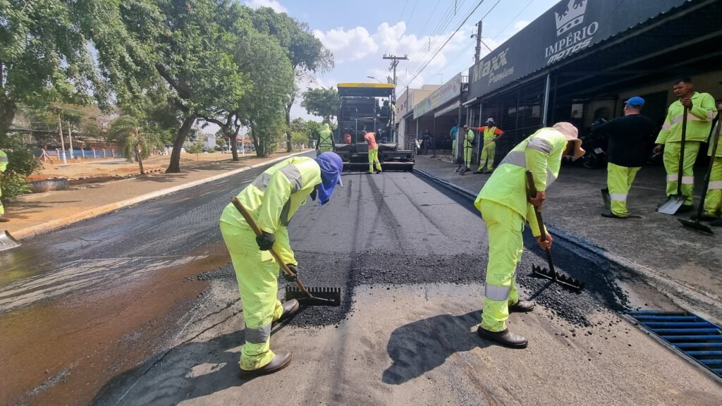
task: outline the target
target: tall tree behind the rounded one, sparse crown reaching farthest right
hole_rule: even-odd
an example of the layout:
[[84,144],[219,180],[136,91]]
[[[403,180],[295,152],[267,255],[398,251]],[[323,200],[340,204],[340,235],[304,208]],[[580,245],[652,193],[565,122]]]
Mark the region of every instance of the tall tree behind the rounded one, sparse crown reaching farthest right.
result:
[[[310,79],[312,74],[328,72],[334,67],[334,56],[310,32],[308,24],[299,22],[286,13],[277,13],[269,7],[253,10],[253,27],[261,33],[273,35],[284,48],[294,72],[294,90],[284,106],[286,125],[291,125],[291,107],[295,102],[298,82]],[[287,152],[291,152],[291,134],[287,134]]]

